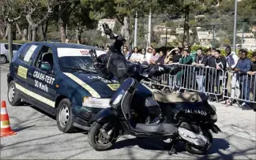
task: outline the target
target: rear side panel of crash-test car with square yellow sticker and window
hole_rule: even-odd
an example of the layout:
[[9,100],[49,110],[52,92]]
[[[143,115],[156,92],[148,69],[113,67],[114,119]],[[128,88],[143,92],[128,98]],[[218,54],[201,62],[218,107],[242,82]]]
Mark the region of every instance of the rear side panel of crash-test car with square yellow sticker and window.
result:
[[13,72],[18,94],[22,99],[29,102],[30,94],[28,88],[28,69],[31,67],[32,54],[36,52],[38,45],[28,44],[21,50],[16,61],[13,62]]

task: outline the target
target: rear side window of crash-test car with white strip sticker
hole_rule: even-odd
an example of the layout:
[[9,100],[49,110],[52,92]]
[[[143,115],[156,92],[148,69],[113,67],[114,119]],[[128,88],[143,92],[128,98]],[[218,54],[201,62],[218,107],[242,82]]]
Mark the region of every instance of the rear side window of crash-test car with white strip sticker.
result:
[[26,47],[24,47],[23,50],[21,50],[20,59],[21,61],[24,61],[28,65],[32,64],[32,54],[36,50],[37,45],[29,44]]

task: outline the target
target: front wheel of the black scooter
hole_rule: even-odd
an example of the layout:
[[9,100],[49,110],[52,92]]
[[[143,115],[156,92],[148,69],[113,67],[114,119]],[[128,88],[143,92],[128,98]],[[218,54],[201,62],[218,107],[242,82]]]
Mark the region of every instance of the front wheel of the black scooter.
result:
[[[106,151],[109,150],[116,142],[116,132],[112,131],[109,138],[104,136],[104,133],[100,131],[103,129],[104,125],[100,125],[97,122],[94,122],[88,132],[88,143],[96,151]],[[106,131],[110,132],[110,131]]]

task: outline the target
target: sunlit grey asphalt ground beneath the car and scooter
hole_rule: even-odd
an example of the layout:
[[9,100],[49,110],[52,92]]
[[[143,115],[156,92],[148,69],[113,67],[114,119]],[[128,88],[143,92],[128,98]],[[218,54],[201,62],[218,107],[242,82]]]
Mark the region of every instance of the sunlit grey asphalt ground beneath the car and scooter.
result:
[[189,154],[179,145],[179,154],[168,155],[164,142],[123,136],[111,151],[94,151],[85,132],[58,131],[53,117],[34,106],[10,106],[7,101],[7,69],[1,65],[1,101],[6,100],[15,136],[1,138],[1,159],[256,159],[256,114],[251,110],[217,108],[217,125],[224,132],[213,133],[213,147],[206,154]]

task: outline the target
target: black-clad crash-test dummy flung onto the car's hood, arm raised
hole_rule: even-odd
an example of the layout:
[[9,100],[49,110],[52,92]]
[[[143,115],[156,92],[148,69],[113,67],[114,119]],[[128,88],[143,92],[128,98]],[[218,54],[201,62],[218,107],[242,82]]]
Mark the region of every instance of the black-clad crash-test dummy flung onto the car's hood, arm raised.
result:
[[[119,84],[122,84],[129,76],[137,76],[137,70],[135,70],[137,67],[135,64],[127,61],[122,54],[121,47],[126,43],[126,39],[122,35],[115,35],[107,24],[103,24],[103,27],[105,34],[109,35],[110,39],[115,39],[115,43],[111,45],[107,54],[102,54],[99,58],[96,55],[96,50],[90,50],[89,54],[91,54],[93,66],[100,76],[107,80],[115,77],[119,80]],[[154,66],[149,73],[152,76],[159,76],[162,73],[176,74],[179,70],[177,67],[165,68],[163,66],[161,68]]]

